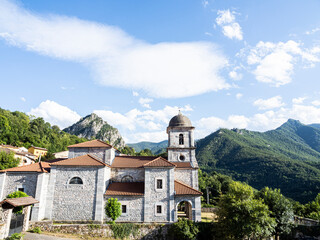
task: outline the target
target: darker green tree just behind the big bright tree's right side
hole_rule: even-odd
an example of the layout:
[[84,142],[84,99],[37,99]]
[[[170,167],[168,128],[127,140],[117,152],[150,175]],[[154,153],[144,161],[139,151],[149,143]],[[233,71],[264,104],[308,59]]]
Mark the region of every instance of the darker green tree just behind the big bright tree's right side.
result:
[[257,196],[268,205],[271,217],[276,220],[274,234],[279,237],[281,234],[291,232],[293,227],[293,206],[291,202],[280,193],[280,189],[265,187],[261,189]]

